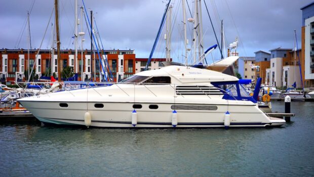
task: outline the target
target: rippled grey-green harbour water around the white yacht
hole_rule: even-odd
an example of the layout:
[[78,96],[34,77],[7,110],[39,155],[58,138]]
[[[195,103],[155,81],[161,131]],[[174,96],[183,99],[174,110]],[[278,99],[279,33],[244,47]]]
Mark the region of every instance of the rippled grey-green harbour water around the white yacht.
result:
[[282,128],[0,125],[0,176],[313,176],[314,103],[291,104]]

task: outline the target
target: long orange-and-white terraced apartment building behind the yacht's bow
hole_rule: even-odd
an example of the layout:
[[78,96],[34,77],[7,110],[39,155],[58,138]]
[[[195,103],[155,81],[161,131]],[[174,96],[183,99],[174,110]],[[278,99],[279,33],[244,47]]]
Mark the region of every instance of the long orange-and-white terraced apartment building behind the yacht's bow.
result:
[[[51,50],[41,50],[37,55],[38,50],[0,50],[0,79],[3,83],[13,81],[25,81],[27,69],[33,67],[37,78],[41,76],[49,76],[49,73],[58,75],[58,62],[56,53],[52,55]],[[62,68],[66,66],[74,67],[74,51],[61,50]],[[77,55],[78,60],[78,80],[104,80],[103,69],[105,72],[111,71],[113,81],[119,81],[135,73],[135,54],[134,50],[105,50],[100,51],[103,58],[107,58],[109,67],[105,69],[98,60],[97,52],[90,50],[83,51]],[[82,65],[83,63],[83,65]],[[83,66],[83,68],[82,68]],[[103,65],[104,66],[104,65]]]

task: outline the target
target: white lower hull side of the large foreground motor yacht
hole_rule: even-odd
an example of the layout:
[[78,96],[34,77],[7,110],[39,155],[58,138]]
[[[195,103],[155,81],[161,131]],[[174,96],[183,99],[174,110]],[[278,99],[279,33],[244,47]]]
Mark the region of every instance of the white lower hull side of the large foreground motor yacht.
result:
[[[68,102],[67,108],[61,108],[61,102],[20,101],[21,104],[40,121],[58,125],[84,125],[84,114],[91,115],[93,127],[125,127],[132,125],[132,106],[134,103],[106,102]],[[103,104],[103,108],[95,108],[95,104]],[[224,127],[226,111],[230,112],[230,127],[264,127],[281,126],[285,120],[271,120],[254,105],[209,105],[184,103],[135,103],[142,105],[137,111],[136,128],[171,128],[172,107],[192,107],[199,110],[176,109],[178,115],[177,128],[184,127]],[[149,109],[149,105],[158,105],[158,109]],[[216,110],[200,110],[202,107],[216,106]]]

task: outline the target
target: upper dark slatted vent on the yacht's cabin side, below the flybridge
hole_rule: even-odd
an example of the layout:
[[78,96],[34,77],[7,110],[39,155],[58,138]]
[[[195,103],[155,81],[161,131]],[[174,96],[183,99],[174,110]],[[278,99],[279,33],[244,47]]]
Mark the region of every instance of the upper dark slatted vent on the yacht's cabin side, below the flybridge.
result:
[[177,95],[223,95],[217,88],[202,85],[176,86]]

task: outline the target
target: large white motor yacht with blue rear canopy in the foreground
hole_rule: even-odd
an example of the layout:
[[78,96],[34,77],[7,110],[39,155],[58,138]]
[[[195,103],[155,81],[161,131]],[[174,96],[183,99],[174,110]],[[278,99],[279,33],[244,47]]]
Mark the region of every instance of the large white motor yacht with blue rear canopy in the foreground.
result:
[[137,73],[108,86],[22,98],[44,123],[95,127],[263,127],[268,117],[238,78],[186,66]]

